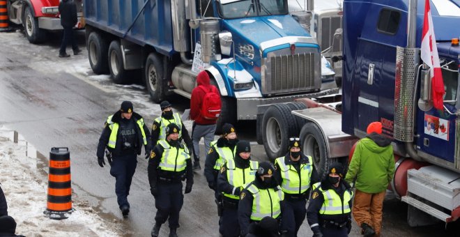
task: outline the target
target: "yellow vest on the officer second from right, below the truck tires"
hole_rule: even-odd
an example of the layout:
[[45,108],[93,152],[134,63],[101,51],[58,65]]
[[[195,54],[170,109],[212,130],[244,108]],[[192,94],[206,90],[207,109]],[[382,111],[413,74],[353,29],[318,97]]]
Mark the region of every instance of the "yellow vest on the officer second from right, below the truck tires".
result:
[[307,158],[308,164],[300,164],[300,176],[293,165],[286,165],[284,163],[284,156],[276,159],[279,169],[281,169],[281,188],[283,192],[289,194],[302,194],[310,187],[313,163],[310,156],[307,156]]

